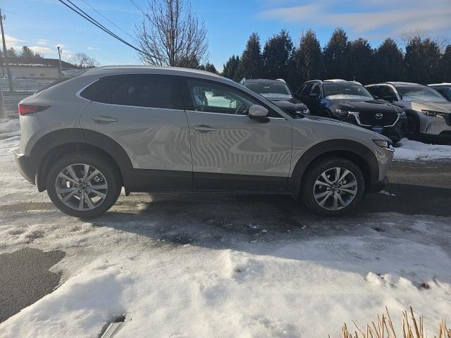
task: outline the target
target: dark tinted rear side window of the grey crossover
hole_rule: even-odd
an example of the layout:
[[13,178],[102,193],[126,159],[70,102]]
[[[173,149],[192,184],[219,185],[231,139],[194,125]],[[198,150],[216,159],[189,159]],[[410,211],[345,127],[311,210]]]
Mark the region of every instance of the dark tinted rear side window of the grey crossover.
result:
[[[99,83],[97,84],[97,82]],[[119,75],[104,77],[97,82],[87,88],[93,93],[99,93],[95,96],[94,101],[119,106],[174,108],[171,77],[169,76]],[[89,96],[89,92],[86,94]]]

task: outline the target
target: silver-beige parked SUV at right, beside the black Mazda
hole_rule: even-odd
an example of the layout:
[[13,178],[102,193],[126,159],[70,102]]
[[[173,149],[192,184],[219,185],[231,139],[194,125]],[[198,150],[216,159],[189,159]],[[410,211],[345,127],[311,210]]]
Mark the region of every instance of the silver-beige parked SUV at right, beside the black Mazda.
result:
[[366,89],[404,108],[409,136],[451,137],[451,102],[434,89],[410,82],[369,84]]

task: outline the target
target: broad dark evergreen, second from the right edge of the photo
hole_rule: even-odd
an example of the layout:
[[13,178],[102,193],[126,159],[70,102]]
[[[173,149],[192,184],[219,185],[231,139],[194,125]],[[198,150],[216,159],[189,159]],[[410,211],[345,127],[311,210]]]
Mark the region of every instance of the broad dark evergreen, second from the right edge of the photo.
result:
[[406,80],[428,84],[437,81],[440,48],[431,39],[413,37],[406,46],[404,66]]

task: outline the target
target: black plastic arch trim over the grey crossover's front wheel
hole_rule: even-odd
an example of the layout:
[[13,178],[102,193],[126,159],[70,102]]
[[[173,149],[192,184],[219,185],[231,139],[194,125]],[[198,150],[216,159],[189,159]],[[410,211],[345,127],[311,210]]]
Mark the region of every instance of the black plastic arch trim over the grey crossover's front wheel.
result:
[[[334,153],[337,156],[350,154],[354,160],[358,160],[359,163],[356,164],[359,165],[359,168],[362,168],[362,165],[366,166],[366,168],[362,168],[366,184],[365,191],[371,191],[372,182],[378,181],[379,177],[379,165],[373,151],[368,146],[350,139],[329,139],[307,149],[297,160],[288,181],[288,187],[295,196],[299,196],[302,178],[309,165],[321,156]],[[352,160],[352,158],[350,159]]]

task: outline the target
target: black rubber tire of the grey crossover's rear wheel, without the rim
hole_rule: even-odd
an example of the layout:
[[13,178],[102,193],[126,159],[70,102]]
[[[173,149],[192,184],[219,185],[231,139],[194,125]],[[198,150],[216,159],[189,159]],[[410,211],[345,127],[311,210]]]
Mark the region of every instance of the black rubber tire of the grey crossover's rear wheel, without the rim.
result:
[[[75,165],[75,163],[85,163],[97,168],[108,184],[106,197],[98,206],[95,206],[91,210],[76,210],[75,208],[70,208],[70,206],[66,206],[66,204],[61,201],[56,193],[56,180],[58,174],[68,165]],[[49,194],[49,197],[56,208],[67,215],[77,218],[92,218],[105,213],[116,203],[122,188],[121,175],[119,174],[116,163],[113,163],[109,158],[106,158],[101,154],[90,152],[67,154],[63,156],[63,158],[60,158],[51,166],[47,175],[46,184],[47,194]]]

